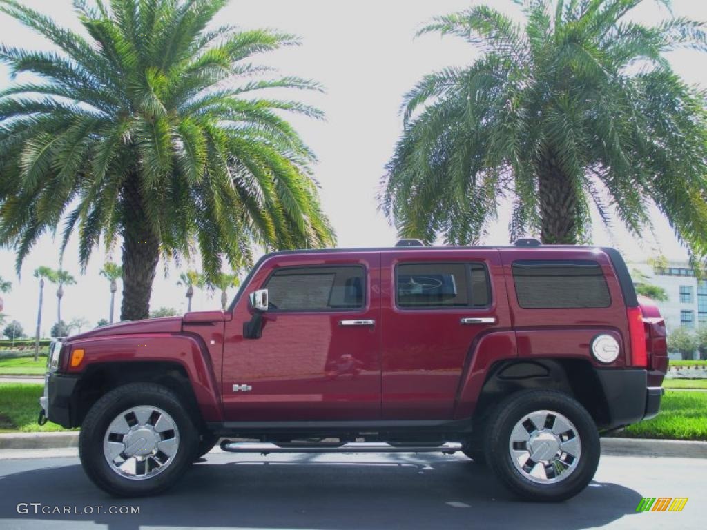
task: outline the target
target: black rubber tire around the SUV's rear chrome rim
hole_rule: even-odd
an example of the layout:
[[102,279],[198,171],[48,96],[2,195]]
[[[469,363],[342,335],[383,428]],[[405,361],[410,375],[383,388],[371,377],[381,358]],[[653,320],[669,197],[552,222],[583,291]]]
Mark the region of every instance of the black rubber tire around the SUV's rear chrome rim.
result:
[[[556,483],[535,483],[522,475],[510,456],[510,435],[523,416],[549,410],[570,420],[581,444],[581,454],[574,471]],[[501,401],[486,424],[484,450],[493,474],[511,491],[527,500],[559,502],[582,491],[594,477],[599,465],[599,432],[592,416],[575,399],[560,391],[523,390]]]

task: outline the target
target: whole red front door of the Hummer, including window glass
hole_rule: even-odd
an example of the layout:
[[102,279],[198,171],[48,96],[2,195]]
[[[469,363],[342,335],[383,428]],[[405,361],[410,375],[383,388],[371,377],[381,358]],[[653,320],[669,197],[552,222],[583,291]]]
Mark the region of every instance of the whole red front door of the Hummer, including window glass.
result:
[[[243,338],[248,296],[267,289],[262,336]],[[228,421],[380,418],[380,253],[264,261],[226,323]]]

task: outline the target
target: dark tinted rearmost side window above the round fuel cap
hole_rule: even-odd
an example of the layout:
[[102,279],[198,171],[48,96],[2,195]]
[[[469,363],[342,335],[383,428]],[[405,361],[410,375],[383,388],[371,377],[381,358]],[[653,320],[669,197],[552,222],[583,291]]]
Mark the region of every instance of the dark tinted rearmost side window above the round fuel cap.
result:
[[580,309],[612,303],[596,261],[513,261],[518,305],[524,309]]

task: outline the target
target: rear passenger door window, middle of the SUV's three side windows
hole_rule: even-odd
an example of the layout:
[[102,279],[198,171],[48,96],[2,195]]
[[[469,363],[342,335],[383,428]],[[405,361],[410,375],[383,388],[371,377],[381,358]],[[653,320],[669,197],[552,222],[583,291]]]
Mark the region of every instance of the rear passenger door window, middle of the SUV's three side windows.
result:
[[485,307],[491,300],[486,267],[474,263],[400,264],[398,307]]

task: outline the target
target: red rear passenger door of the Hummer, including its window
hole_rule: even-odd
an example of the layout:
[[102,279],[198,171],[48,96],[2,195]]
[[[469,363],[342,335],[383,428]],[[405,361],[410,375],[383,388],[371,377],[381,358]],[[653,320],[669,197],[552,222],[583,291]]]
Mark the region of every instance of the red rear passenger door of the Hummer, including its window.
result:
[[452,418],[474,342],[510,327],[495,249],[383,252],[382,416]]

